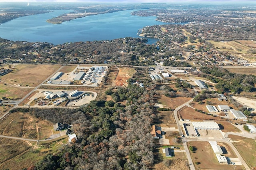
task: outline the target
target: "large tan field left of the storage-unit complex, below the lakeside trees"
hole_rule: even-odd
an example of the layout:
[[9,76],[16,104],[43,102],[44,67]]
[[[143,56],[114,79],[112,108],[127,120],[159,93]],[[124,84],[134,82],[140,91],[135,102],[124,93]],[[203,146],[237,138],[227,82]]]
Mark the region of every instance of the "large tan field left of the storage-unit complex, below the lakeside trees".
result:
[[33,87],[40,84],[60,65],[15,64],[14,71],[1,76],[2,80],[14,86]]

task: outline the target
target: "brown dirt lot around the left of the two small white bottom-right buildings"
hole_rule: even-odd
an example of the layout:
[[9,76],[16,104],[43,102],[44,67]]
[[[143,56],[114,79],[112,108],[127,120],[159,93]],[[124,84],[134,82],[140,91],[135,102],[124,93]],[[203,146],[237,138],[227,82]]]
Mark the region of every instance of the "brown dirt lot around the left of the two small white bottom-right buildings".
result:
[[[196,169],[218,169],[218,170],[234,170],[233,166],[228,164],[220,164],[212,150],[212,147],[209,142],[199,142],[193,141],[187,143],[188,147],[196,147],[195,153],[190,151],[192,160],[194,162]],[[200,162],[196,165],[195,162]],[[242,169],[244,166],[236,166],[237,169]]]

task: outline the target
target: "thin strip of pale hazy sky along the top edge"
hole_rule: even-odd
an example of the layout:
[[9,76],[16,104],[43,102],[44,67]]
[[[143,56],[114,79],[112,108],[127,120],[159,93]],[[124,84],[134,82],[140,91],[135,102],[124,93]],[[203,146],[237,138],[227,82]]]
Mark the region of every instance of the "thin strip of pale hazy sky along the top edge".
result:
[[[230,2],[230,3],[241,3],[241,2],[255,2],[256,0],[0,0],[0,2],[129,2],[129,3],[172,3],[172,2]],[[256,2],[255,2],[256,4]]]

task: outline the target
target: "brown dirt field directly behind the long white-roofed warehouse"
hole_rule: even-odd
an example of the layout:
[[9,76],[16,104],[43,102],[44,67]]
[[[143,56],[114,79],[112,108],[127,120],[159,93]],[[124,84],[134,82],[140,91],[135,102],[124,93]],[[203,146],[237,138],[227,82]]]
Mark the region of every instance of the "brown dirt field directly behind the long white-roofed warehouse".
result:
[[190,119],[190,120],[222,120],[220,117],[213,117],[211,115],[206,115],[204,113],[200,113],[195,111],[191,107],[184,107],[181,111],[178,111],[181,115],[182,119]]

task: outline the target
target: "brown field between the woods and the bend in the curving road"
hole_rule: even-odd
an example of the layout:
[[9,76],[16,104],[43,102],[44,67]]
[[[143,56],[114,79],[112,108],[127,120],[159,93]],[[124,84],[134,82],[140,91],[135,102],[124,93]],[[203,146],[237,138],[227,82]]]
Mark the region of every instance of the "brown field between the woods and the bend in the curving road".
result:
[[163,96],[160,96],[160,98],[158,99],[158,103],[174,109],[180,106],[181,104],[188,102],[190,99],[191,98],[184,98],[184,97],[169,98],[163,95]]

